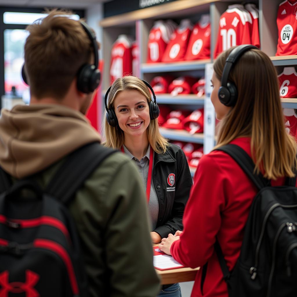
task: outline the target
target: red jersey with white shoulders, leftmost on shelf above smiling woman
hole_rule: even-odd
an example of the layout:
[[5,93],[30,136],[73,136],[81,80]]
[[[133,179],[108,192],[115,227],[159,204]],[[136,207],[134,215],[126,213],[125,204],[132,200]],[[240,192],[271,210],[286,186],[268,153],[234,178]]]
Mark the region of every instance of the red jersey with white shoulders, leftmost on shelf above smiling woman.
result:
[[149,32],[147,63],[161,62],[170,36],[165,23],[158,20]]

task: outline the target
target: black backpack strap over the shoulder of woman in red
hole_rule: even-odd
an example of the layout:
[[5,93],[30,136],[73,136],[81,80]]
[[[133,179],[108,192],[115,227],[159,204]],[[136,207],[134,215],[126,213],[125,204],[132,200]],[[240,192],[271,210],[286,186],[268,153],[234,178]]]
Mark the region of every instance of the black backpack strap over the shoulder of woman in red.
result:
[[247,152],[241,149],[241,147],[237,146],[236,144],[226,144],[225,146],[221,146],[216,150],[223,151],[230,155],[255,184],[257,189],[260,190],[261,188],[270,185],[270,181],[264,178],[261,173],[254,173],[255,164]]

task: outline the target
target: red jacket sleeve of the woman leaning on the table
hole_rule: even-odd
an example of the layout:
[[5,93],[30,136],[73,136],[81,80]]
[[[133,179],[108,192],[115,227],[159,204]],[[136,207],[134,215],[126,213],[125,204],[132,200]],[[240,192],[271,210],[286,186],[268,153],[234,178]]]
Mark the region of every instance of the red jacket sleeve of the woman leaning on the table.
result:
[[170,249],[174,259],[192,268],[203,266],[213,253],[230,190],[230,181],[213,156],[205,155],[199,162],[184,211],[184,232]]

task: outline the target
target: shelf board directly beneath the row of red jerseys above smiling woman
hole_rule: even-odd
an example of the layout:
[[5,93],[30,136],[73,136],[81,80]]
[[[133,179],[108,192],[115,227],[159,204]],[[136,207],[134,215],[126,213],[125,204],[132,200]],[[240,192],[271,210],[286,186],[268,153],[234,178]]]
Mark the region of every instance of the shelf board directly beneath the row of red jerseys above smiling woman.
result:
[[176,63],[143,63],[140,67],[142,73],[204,70],[205,64],[210,63],[210,59],[197,61],[180,61]]

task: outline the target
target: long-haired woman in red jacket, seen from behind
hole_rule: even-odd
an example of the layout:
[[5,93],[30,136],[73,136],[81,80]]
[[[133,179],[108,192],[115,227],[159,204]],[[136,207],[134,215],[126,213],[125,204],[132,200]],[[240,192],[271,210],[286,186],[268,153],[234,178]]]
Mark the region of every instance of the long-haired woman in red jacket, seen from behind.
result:
[[[285,176],[294,176],[296,141],[285,131],[277,73],[269,57],[253,46],[230,48],[215,61],[211,81],[211,101],[222,120],[216,147],[240,146],[252,157],[256,172],[272,186],[283,185]],[[212,151],[201,158],[184,211],[184,230],[159,245],[186,266],[202,268],[208,263],[197,273],[192,297],[228,296],[214,244],[217,238],[231,271],[256,193],[228,154]]]

